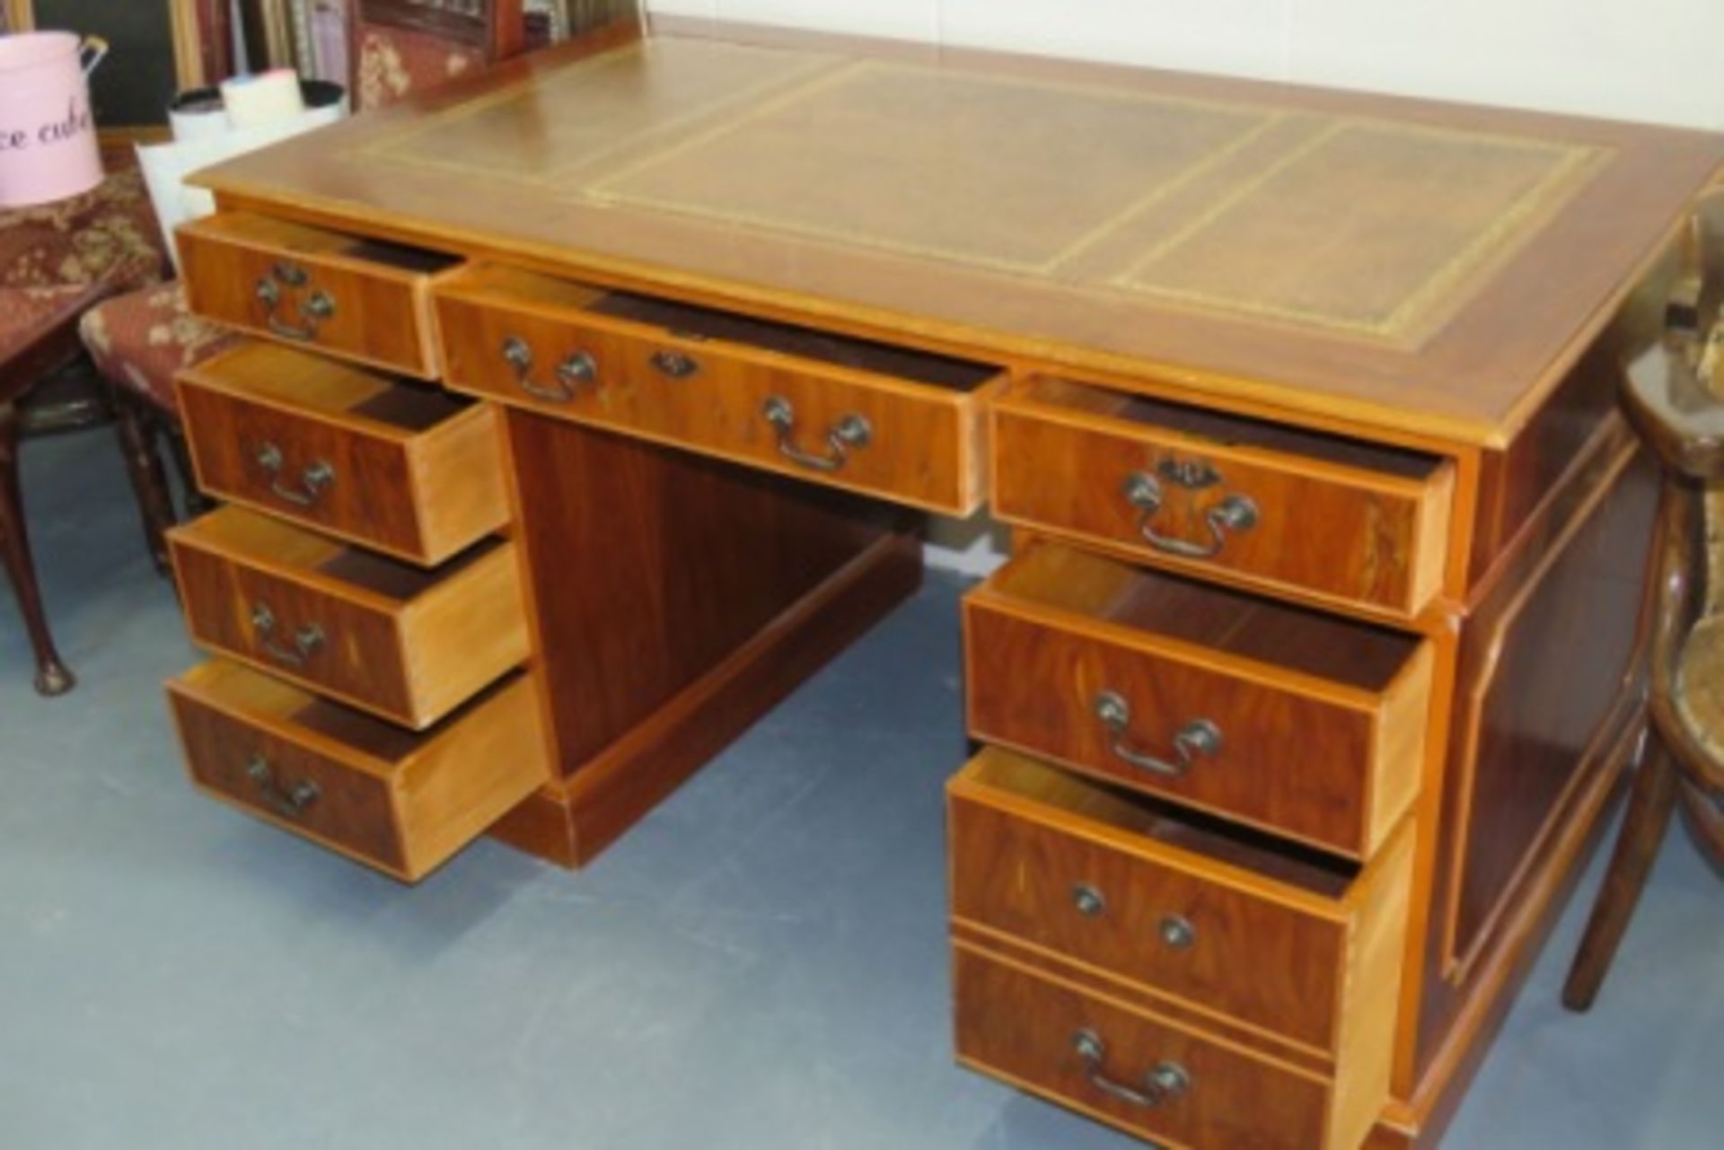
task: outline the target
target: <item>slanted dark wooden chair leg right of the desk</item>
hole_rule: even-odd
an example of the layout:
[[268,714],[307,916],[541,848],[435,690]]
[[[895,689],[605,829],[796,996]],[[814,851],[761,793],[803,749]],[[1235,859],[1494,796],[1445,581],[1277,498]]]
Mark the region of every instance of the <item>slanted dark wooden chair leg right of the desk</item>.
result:
[[1676,809],[1676,760],[1657,731],[1650,731],[1646,740],[1646,760],[1634,774],[1622,834],[1610,855],[1610,869],[1605,871],[1581,948],[1574,953],[1574,966],[1569,967],[1569,981],[1562,986],[1562,1005],[1569,1010],[1590,1010],[1598,997]]

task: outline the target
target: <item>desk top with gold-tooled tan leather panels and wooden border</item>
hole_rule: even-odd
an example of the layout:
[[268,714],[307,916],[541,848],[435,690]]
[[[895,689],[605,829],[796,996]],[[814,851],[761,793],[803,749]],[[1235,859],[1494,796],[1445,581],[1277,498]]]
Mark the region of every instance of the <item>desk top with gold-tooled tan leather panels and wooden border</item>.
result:
[[1503,443],[1724,140],[660,26],[212,169],[234,200],[978,357]]

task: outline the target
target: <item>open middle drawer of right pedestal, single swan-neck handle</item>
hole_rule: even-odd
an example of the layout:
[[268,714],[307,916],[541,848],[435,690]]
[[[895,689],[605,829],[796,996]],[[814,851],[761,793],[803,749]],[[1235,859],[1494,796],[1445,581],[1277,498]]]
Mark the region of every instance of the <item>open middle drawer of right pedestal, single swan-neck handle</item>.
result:
[[1415,636],[1050,541],[964,628],[978,738],[1355,859],[1417,795]]

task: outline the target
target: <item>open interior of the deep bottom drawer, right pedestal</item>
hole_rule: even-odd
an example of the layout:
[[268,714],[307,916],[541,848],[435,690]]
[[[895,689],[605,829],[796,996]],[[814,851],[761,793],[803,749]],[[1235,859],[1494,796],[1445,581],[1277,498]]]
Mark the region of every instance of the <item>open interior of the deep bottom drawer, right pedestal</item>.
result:
[[1248,871],[1284,886],[1340,902],[1360,864],[1290,845],[1224,819],[1176,809],[1148,795],[1069,774],[995,747],[971,760],[964,784],[1034,803],[1059,824],[1105,828],[1145,843],[1162,843],[1202,859]]

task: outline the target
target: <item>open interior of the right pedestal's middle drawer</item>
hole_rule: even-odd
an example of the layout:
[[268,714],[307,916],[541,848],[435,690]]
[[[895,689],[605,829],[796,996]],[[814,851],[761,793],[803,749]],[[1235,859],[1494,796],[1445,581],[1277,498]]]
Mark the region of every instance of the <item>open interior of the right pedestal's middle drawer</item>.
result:
[[1019,603],[1129,628],[1346,686],[1384,693],[1419,636],[1181,579],[1059,543],[1036,543],[988,581]]

